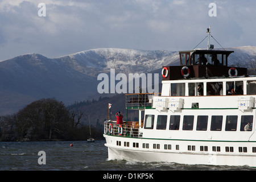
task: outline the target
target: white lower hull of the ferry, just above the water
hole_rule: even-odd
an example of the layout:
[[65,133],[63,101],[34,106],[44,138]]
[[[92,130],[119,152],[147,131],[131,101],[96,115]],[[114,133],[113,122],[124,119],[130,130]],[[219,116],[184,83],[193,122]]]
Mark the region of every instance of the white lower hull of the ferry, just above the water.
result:
[[[150,139],[132,139],[124,137],[113,137],[110,135],[104,135],[106,138],[105,146],[108,147],[108,160],[128,160],[136,162],[167,162],[167,163],[180,163],[180,164],[203,164],[203,165],[216,165],[216,166],[250,166],[256,167],[256,155],[250,155],[239,152],[202,152],[202,151],[189,151],[182,152],[181,148],[179,151],[175,150],[164,150],[154,149],[149,150],[140,148],[144,142],[150,143]],[[116,141],[130,141],[130,147],[117,146]],[[132,143],[139,143],[139,148],[134,148]],[[141,143],[140,143],[141,142]],[[142,143],[143,142],[143,143]],[[153,143],[167,143],[167,140],[151,140]],[[169,142],[169,141],[168,141]],[[191,144],[190,141],[172,141],[179,143],[179,146],[187,147]],[[161,144],[162,143],[162,144]],[[193,145],[198,148],[205,142],[192,142]],[[208,146],[209,146],[209,142]],[[250,144],[250,143],[247,143]],[[173,145],[173,144],[172,144]],[[213,142],[213,145],[216,143]],[[225,146],[226,143],[218,143],[218,145]],[[175,146],[175,145],[174,145]],[[236,146],[241,146],[241,143],[236,143]],[[245,144],[243,143],[243,146]],[[223,147],[222,147],[223,148]]]

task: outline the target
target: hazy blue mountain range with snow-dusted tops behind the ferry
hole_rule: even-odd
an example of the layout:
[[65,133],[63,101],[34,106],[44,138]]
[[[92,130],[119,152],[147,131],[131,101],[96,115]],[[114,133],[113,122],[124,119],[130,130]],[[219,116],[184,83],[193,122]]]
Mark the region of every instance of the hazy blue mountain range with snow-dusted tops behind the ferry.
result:
[[[226,49],[235,51],[230,65],[255,64],[256,47]],[[178,64],[178,51],[99,48],[55,59],[28,53],[0,62],[0,114],[13,113],[40,98],[55,97],[65,104],[87,100],[97,94],[98,74],[111,68],[115,74],[160,73],[163,65]]]

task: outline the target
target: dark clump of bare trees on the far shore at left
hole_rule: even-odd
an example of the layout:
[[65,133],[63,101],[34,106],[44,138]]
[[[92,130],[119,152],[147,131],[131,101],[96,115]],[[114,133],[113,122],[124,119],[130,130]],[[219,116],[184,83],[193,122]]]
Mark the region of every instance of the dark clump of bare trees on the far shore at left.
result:
[[[55,98],[43,98],[15,114],[0,117],[0,141],[86,140],[89,126],[81,124],[85,113],[65,107]],[[101,128],[91,127],[92,137],[101,137]]]

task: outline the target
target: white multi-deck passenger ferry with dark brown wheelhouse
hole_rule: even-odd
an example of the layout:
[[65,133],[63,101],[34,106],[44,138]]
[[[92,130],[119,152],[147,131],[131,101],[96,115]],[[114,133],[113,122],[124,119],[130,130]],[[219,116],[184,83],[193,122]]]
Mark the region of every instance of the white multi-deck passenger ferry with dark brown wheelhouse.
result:
[[108,159],[256,167],[256,76],[229,67],[232,52],[180,51],[162,93],[126,94],[139,121],[104,123]]

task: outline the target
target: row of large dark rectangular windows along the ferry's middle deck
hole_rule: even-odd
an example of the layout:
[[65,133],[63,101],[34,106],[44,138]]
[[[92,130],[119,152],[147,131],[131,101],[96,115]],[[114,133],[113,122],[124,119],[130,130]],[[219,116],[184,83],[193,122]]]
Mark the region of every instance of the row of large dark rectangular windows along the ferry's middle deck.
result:
[[[156,130],[167,129],[168,115],[157,115]],[[169,130],[180,129],[180,115],[170,115]],[[193,130],[194,115],[183,116],[182,130]],[[196,130],[207,131],[208,115],[197,115]],[[154,128],[155,115],[146,115],[144,129]],[[210,131],[221,131],[222,122],[224,120],[223,115],[212,115],[210,117]],[[225,131],[237,131],[238,115],[226,115]],[[253,115],[241,115],[240,118],[240,131],[251,131],[253,126]]]

